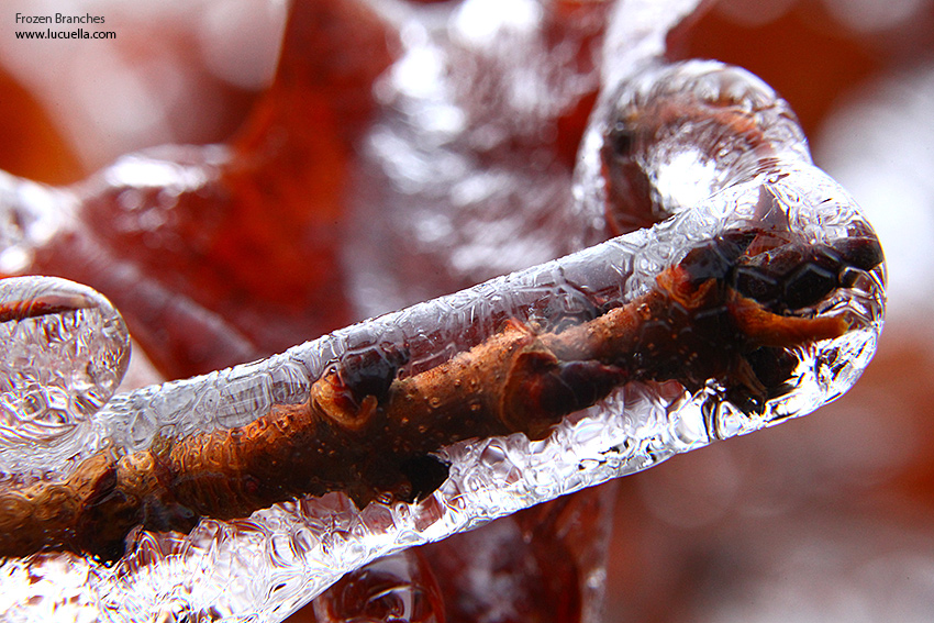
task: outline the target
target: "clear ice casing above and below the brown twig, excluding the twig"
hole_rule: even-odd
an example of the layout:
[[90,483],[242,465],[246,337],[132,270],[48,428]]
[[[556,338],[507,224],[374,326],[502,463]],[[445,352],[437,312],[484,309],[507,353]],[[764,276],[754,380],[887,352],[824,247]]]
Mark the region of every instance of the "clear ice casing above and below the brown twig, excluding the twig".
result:
[[[674,78],[661,71],[652,80],[664,87],[670,79],[678,87],[669,91],[681,92],[687,85],[677,81],[682,76],[678,71],[696,69],[716,79],[726,68],[682,65],[675,68]],[[742,84],[748,75],[726,69],[721,76],[738,76]],[[750,88],[760,86],[754,81]],[[592,154],[585,148],[585,167],[599,163],[588,154],[601,153],[601,137],[614,123],[612,109],[603,113],[594,118],[588,134],[600,142]],[[793,120],[790,127],[797,127]],[[758,249],[761,253],[744,252],[747,266],[785,247],[792,255],[805,244],[826,249],[810,260],[798,258],[791,272],[776,266],[788,257],[776,252],[775,262],[759,262],[766,265],[764,272],[754,272],[764,276],[760,280],[775,277],[786,286],[798,282],[798,277],[807,281],[812,275],[825,276],[821,263],[826,257],[845,260],[832,276],[834,287],[826,296],[809,298],[804,309],[786,311],[805,320],[841,319],[846,331],[802,340],[791,349],[788,379],[768,383],[776,392],[766,396],[759,408],[734,400],[729,377],[681,382],[653,370],[655,376],[620,382],[596,405],[569,413],[547,435],[515,432],[443,443],[431,454],[451,464],[449,478],[419,503],[390,497],[359,510],[334,491],[298,497],[229,521],[205,518],[190,532],[134,533],[130,552],[112,567],[71,554],[11,558],[2,567],[7,590],[0,596],[0,611],[14,620],[97,612],[118,621],[149,620],[154,613],[165,620],[279,620],[344,571],[380,555],[643,469],[714,438],[802,415],[835,398],[856,380],[875,349],[882,322],[883,269],[875,256],[863,262],[858,252],[850,253],[853,241],[871,246],[870,227],[846,193],[810,165],[800,131],[789,136],[788,143],[759,137],[737,142],[742,166],[726,165],[729,175],[714,175],[705,187],[709,197],[679,201],[675,191],[660,194],[659,204],[670,201],[677,209],[669,211],[672,218],[649,229],[336,332],[266,361],[115,397],[93,418],[96,442],[73,449],[79,458],[91,459],[98,450],[126,457],[166,440],[246,427],[258,418],[300,408],[329,375],[367,360],[368,353],[382,357],[392,347],[407,353],[404,363],[397,361],[400,369],[393,370],[392,382],[414,379],[501,335],[512,319],[536,334],[559,336],[613,310],[647,301],[659,278],[672,267],[690,264],[696,249],[750,231],[765,246]],[[681,147],[707,153],[693,143]],[[744,158],[747,152],[754,156]],[[718,153],[709,162],[716,169],[720,163],[730,163],[731,155]],[[658,167],[652,167],[654,175]],[[702,158],[694,157],[683,168],[686,176],[711,179]],[[593,181],[592,187],[579,186],[578,192],[589,197],[581,202],[581,212],[598,223],[608,201],[602,177]],[[771,236],[769,244],[775,246],[761,242],[759,234]],[[731,287],[740,285],[735,272],[723,280]],[[633,369],[646,367],[652,366]],[[46,478],[67,475],[69,469],[53,470]]]

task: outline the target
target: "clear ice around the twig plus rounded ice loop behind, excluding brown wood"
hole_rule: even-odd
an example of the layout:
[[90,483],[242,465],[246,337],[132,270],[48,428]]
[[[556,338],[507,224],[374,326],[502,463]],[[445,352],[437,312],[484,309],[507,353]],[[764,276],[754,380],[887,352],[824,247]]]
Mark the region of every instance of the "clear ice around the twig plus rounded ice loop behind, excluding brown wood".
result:
[[[404,349],[396,378],[407,379],[486,343],[510,320],[536,333],[559,334],[651,294],[659,275],[722,234],[779,232],[832,248],[850,238],[870,240],[871,229],[846,192],[811,165],[793,116],[767,86],[716,64],[654,65],[672,25],[668,20],[687,10],[675,4],[667,18],[659,18],[656,8],[643,7],[646,12],[638,13],[638,5],[629,21],[624,11],[615,15],[611,32],[633,36],[634,43],[630,49],[611,37],[607,46],[620,55],[611,58],[625,63],[608,62],[604,68],[603,90],[568,199],[580,221],[579,231],[568,236],[578,236],[578,243],[632,229],[605,212],[608,205],[631,200],[630,191],[637,191],[644,179],[653,189],[651,203],[635,221],[661,222],[262,361],[115,396],[100,410],[75,416],[81,434],[65,436],[56,446],[58,456],[70,463],[49,464],[41,452],[11,445],[16,452],[15,460],[4,464],[8,480],[54,480],[98,452],[131,455],[165,440],[245,426],[277,409],[304,403],[315,383],[330,372],[344,372],[368,353]],[[663,107],[652,118],[663,120],[660,131],[636,119],[626,126],[636,129],[632,136],[613,134],[618,121],[629,119],[630,102],[637,102],[641,111],[653,98],[685,93],[691,110],[700,101],[701,114],[713,119],[710,126],[696,124],[696,133],[686,132],[666,121],[683,118],[666,116]],[[737,125],[736,111],[748,115],[740,115],[743,123],[753,121]],[[640,129],[649,126],[640,135]],[[605,175],[609,159],[630,177]],[[419,502],[390,497],[358,509],[334,491],[240,519],[202,519],[189,533],[137,531],[130,535],[126,555],[113,565],[55,552],[9,558],[0,566],[0,612],[13,621],[277,621],[379,556],[651,467],[714,440],[807,414],[856,381],[882,326],[883,266],[842,270],[845,275],[834,276],[834,282],[845,287],[809,301],[805,309],[786,311],[842,318],[848,331],[792,348],[789,379],[761,409],[732,402],[732,388],[720,378],[693,387],[677,377],[640,377],[571,413],[545,438],[531,441],[519,432],[442,444],[433,454],[449,463],[449,478]],[[87,322],[100,326],[100,321]],[[27,349],[36,340],[23,334],[14,342]],[[122,360],[111,356],[112,378],[94,376],[94,382],[113,386]]]

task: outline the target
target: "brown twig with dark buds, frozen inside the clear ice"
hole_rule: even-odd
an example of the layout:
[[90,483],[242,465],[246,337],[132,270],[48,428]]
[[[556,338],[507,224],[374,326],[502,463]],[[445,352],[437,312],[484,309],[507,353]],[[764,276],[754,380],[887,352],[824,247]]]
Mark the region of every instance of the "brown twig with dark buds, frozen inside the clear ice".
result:
[[[397,375],[404,345],[345,357],[313,383],[304,404],[274,407],[227,431],[160,438],[123,457],[99,453],[60,481],[8,485],[0,491],[0,555],[70,549],[115,559],[137,525],[188,532],[202,516],[243,518],[330,491],[360,508],[374,499],[411,501],[446,478],[446,465],[432,456],[444,446],[510,433],[544,438],[565,415],[635,380],[674,379],[694,390],[713,379],[729,398],[760,408],[787,391],[787,349],[848,330],[840,318],[790,315],[787,300],[811,304],[845,285],[801,282],[808,270],[786,270],[780,259],[789,254],[805,268],[833,264],[837,275],[881,262],[872,237],[804,247],[732,232],[664,270],[648,293],[559,332],[510,321],[405,378]],[[750,266],[760,281],[777,283],[778,298],[748,286]]]

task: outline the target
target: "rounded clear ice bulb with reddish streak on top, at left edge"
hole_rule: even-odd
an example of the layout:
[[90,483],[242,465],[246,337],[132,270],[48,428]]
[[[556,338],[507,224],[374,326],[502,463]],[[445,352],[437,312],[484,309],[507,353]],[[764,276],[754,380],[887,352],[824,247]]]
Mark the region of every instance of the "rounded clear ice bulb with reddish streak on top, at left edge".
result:
[[49,443],[98,411],[130,361],[118,311],[55,277],[0,280],[0,445]]

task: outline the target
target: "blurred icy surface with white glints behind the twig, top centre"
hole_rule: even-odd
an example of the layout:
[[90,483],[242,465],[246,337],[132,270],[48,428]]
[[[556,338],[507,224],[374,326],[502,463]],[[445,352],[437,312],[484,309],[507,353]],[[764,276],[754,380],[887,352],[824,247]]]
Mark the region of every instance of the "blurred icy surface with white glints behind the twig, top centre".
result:
[[365,316],[579,248],[571,174],[612,5],[468,0],[402,15],[362,149],[375,181],[353,199],[345,249]]

